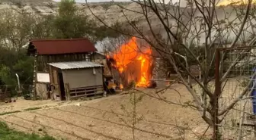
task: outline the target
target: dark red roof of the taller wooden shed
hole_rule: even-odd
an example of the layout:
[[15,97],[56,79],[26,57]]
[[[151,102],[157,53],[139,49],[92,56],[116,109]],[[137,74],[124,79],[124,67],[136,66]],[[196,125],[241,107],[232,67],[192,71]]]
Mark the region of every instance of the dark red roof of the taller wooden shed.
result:
[[37,54],[73,54],[96,51],[88,39],[35,39],[30,42],[37,48]]

